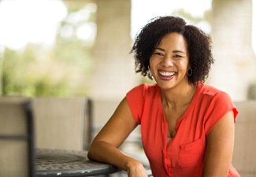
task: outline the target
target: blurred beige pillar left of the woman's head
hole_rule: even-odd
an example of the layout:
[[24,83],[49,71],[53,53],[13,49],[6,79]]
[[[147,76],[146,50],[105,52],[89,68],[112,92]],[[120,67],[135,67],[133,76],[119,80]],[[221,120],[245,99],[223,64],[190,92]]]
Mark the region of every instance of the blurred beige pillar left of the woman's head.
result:
[[131,0],[96,0],[97,37],[93,48],[94,73],[90,96],[121,100],[137,83],[132,47]]

